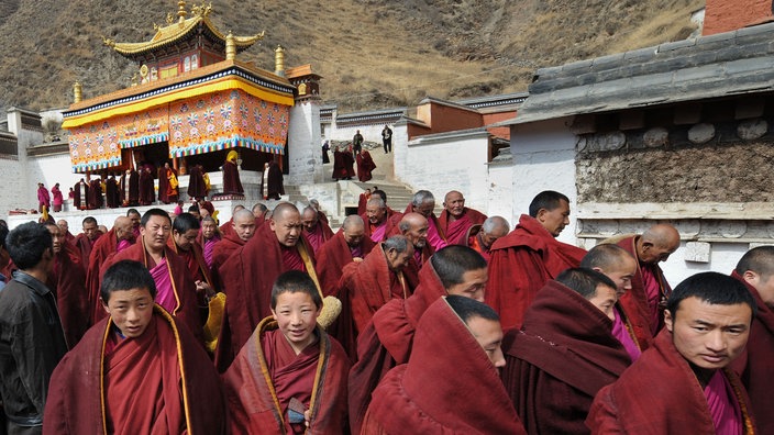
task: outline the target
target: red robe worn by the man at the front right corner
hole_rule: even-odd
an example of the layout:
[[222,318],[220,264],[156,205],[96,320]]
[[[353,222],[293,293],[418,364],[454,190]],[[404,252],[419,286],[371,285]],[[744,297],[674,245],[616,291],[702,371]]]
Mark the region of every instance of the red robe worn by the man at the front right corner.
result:
[[[737,375],[726,368],[742,409],[745,434],[753,433],[750,400]],[[595,434],[714,434],[704,388],[664,330],[621,377],[597,393],[586,419]]]

